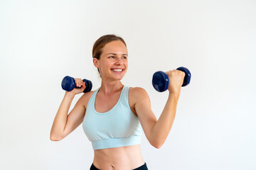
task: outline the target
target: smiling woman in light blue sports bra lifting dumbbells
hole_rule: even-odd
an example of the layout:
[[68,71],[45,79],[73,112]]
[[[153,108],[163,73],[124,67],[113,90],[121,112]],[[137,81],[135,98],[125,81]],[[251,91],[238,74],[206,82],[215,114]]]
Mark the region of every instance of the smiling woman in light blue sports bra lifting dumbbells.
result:
[[92,57],[102,78],[100,88],[83,94],[68,114],[75,94],[85,89],[82,79],[75,79],[76,86],[82,88],[65,92],[50,140],[62,140],[82,123],[95,154],[90,169],[147,169],[140,148],[142,131],[152,146],[160,148],[164,144],[174,122],[185,74],[176,69],[166,72],[169,98],[156,120],[146,91],[121,82],[128,69],[127,46],[122,38],[102,36],[93,46]]

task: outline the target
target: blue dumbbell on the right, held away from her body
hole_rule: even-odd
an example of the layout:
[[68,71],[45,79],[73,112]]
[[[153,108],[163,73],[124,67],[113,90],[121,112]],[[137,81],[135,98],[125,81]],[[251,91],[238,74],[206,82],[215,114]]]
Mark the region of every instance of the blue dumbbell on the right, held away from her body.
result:
[[[191,72],[185,67],[178,67],[178,70],[185,72],[185,77],[183,79],[182,86],[186,86],[190,83],[191,80]],[[169,86],[169,78],[165,72],[155,72],[152,79],[152,84],[154,89],[159,92],[166,91]]]

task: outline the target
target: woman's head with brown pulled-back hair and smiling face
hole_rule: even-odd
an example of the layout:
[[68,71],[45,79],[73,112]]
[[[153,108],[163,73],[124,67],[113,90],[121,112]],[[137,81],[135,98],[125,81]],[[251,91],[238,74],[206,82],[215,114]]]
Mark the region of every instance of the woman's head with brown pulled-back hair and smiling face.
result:
[[[92,57],[100,77],[104,74],[107,77],[114,75],[117,78],[118,75],[121,78],[127,71],[127,45],[117,35],[103,35],[100,37],[93,45]],[[117,69],[122,69],[122,72],[117,72]]]

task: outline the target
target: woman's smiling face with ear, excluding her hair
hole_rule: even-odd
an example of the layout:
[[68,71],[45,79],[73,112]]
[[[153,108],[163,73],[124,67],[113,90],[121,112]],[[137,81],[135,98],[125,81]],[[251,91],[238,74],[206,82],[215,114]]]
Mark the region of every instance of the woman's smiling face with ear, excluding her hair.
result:
[[128,69],[127,47],[120,40],[108,42],[102,48],[100,60],[93,58],[102,79],[121,80]]

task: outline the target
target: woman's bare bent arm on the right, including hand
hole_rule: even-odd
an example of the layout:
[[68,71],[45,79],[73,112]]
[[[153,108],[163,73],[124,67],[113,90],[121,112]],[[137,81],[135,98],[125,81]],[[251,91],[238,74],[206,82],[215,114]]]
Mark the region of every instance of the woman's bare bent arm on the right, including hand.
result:
[[183,83],[183,78],[185,77],[185,74],[178,70],[172,70],[166,72],[166,74],[170,81],[168,88],[169,97],[159,120],[156,120],[156,116],[153,111],[151,111],[151,103],[146,91],[142,88],[134,89],[137,91],[137,93],[134,93],[134,97],[136,96],[134,104],[135,111],[142,124],[146,138],[152,146],[158,149],[166,141],[171,126],[174,123],[181,85]]

